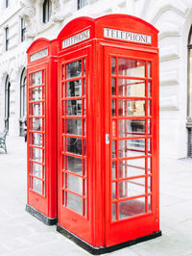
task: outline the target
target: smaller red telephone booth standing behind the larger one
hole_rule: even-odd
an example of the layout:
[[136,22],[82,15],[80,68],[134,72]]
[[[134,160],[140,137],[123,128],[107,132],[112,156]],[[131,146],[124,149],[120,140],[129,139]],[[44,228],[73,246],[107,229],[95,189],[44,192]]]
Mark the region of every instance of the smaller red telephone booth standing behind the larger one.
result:
[[26,210],[46,224],[57,222],[58,42],[36,39],[27,66]]

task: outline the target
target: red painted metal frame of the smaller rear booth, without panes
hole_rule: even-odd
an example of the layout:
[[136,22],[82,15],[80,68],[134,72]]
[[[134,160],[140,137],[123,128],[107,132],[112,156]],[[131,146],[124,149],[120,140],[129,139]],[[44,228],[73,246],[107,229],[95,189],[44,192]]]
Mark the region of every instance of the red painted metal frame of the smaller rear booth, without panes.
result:
[[[58,73],[58,42],[57,40],[48,40],[45,38],[36,39],[29,47],[28,66],[27,66],[27,167],[28,167],[28,196],[27,203],[30,207],[36,209],[37,212],[47,218],[57,218],[57,73]],[[48,55],[38,58],[31,62],[31,56],[41,50],[47,49]],[[42,85],[32,87],[32,76],[36,72],[41,72],[44,76]],[[41,88],[41,100],[32,99],[32,89]],[[44,105],[44,113],[37,117],[43,119],[42,131],[34,131],[32,127],[32,107],[34,103],[41,102]],[[42,111],[42,110],[41,110]],[[42,146],[33,145],[32,135],[42,135]],[[33,160],[32,148],[42,148],[42,179],[33,175],[33,167],[31,163],[38,162]],[[43,157],[44,155],[44,157]],[[43,173],[44,172],[44,173]],[[42,181],[42,193],[33,190],[33,177]]]

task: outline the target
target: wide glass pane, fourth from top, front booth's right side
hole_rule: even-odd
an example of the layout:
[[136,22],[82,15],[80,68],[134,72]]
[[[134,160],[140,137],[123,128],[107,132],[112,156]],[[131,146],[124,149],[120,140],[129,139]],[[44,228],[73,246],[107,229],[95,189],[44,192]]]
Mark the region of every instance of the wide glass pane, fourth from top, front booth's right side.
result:
[[135,137],[145,135],[145,119],[120,119],[119,137]]

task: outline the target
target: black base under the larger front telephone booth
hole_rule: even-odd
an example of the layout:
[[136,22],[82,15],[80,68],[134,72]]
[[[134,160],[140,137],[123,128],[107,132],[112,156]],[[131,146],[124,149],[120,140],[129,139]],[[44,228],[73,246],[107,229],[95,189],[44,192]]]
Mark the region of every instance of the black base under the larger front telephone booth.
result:
[[124,247],[128,247],[128,246],[131,246],[131,245],[136,244],[136,243],[145,242],[145,241],[155,239],[155,238],[161,236],[161,231],[157,231],[157,232],[154,232],[151,235],[141,237],[141,238],[138,238],[138,239],[134,239],[132,241],[128,241],[128,242],[125,242],[125,243],[118,243],[116,245],[112,245],[112,246],[109,246],[109,247],[105,247],[105,246],[94,247],[89,243],[85,243],[79,237],[77,237],[76,235],[74,235],[70,231],[66,230],[65,228],[61,227],[59,224],[57,224],[57,231],[59,231],[60,234],[62,234],[66,238],[70,239],[74,243],[77,243],[78,245],[83,247],[86,251],[88,251],[89,253],[94,254],[94,255],[100,255],[100,254],[103,254],[103,253],[108,253],[108,252],[111,252],[111,251],[114,251],[114,250],[118,250],[118,249],[121,249],[121,248],[124,248]]

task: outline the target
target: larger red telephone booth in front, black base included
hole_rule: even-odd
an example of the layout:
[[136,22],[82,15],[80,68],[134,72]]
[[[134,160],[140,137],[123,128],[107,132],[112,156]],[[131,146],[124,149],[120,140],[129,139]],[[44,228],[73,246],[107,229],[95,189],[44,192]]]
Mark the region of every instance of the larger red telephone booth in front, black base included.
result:
[[58,230],[92,253],[161,234],[157,33],[109,14],[58,37]]

